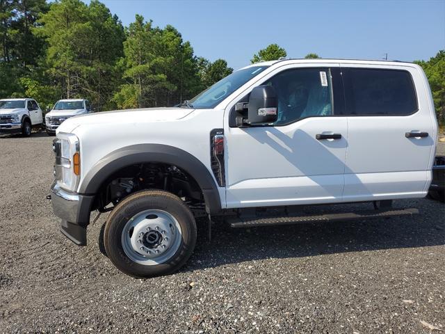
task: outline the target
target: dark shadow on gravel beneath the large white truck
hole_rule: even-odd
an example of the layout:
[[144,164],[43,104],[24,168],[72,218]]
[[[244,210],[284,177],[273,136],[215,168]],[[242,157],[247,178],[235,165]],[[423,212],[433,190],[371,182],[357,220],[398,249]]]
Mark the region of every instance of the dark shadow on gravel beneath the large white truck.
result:
[[439,202],[431,203],[428,204],[431,207],[421,209],[421,214],[413,217],[300,223],[250,229],[227,228],[224,223],[214,223],[211,243],[206,239],[203,224],[202,232],[198,232],[195,253],[181,271],[270,257],[308,257],[444,245],[445,206]]

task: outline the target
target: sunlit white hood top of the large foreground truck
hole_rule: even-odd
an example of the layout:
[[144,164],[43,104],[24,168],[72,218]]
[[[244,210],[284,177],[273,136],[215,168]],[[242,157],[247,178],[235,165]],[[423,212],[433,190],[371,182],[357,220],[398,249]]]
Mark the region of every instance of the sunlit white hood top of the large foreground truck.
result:
[[107,123],[131,124],[140,122],[165,122],[179,120],[192,113],[188,108],[144,108],[102,113],[89,113],[83,116],[68,118],[58,127],[58,132],[72,132],[76,127],[86,125],[106,125]]

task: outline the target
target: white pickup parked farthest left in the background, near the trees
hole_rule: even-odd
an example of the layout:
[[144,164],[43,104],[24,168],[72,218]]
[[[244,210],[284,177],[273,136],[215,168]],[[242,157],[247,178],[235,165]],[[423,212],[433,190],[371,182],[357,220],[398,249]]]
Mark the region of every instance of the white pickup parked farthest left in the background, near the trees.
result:
[[33,99],[0,100],[0,134],[31,136],[33,127],[41,127],[42,109]]

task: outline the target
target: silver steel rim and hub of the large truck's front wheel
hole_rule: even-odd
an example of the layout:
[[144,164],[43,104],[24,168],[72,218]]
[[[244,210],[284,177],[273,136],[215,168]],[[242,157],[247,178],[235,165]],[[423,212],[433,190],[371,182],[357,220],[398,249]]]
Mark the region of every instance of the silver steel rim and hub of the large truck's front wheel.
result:
[[163,210],[146,210],[131,217],[122,230],[122,248],[134,262],[161,264],[181,245],[177,219]]

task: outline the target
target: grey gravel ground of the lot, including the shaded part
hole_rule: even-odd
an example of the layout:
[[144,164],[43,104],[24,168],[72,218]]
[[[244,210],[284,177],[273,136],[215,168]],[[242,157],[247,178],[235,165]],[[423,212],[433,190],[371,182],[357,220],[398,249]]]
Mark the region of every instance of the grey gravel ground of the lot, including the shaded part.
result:
[[442,203],[396,202],[421,210],[410,218],[216,226],[181,271],[136,280],[98,244],[106,217],[90,225],[86,247],[58,231],[45,199],[51,140],[0,138],[0,332],[445,331]]

